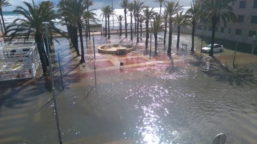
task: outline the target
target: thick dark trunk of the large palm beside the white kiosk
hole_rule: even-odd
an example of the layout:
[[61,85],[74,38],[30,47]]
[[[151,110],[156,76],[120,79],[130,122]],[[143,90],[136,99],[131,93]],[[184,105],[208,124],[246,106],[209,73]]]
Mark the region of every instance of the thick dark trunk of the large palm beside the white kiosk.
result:
[[35,35],[35,41],[37,43],[37,50],[39,53],[39,58],[40,58],[42,69],[43,69],[43,75],[47,76],[47,65],[46,65],[45,57],[43,56],[43,52],[42,52],[42,48],[41,48],[41,38],[42,38],[41,34]]

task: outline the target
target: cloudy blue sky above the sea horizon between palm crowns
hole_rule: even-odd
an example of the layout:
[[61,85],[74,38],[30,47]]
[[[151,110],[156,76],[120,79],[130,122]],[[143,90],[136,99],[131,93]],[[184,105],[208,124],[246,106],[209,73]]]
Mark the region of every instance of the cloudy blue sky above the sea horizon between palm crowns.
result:
[[[32,0],[9,0],[9,2],[11,3],[12,6],[4,7],[3,11],[13,11],[16,6],[23,7],[23,6],[25,6],[23,4],[23,1],[32,3]],[[34,0],[34,2],[36,4],[41,1],[43,1],[43,0]],[[57,4],[59,0],[50,0],[50,1]],[[94,1],[94,5],[90,7],[91,9],[101,9],[103,6],[112,4],[111,0],[93,0],[93,1]],[[121,0],[113,0],[113,1],[114,1],[113,7],[115,9],[119,8],[118,3],[120,3]],[[132,0],[130,0],[130,1],[132,1]],[[154,3],[153,0],[140,0],[140,1],[144,2],[145,5],[149,5],[150,7],[160,7],[160,5],[158,3]],[[183,6],[190,6],[190,2],[191,2],[191,0],[173,0],[173,1],[179,1],[180,5],[183,5]]]

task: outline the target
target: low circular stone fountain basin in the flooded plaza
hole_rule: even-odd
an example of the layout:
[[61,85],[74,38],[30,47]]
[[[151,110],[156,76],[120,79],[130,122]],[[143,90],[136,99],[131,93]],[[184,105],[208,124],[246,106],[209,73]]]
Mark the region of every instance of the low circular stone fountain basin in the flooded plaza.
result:
[[102,54],[118,54],[118,51],[125,50],[126,53],[132,52],[134,47],[127,44],[107,44],[98,47],[98,52]]

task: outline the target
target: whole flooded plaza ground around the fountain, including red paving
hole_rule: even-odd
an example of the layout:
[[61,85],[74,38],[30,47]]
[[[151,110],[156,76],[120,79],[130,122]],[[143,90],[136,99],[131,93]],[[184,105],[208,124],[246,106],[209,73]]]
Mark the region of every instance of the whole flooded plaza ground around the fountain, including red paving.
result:
[[[162,33],[160,34],[162,35]],[[134,35],[133,35],[134,36]],[[93,41],[88,40],[85,61],[78,64],[74,48],[59,38],[53,50],[55,93],[63,143],[88,144],[207,144],[219,133],[229,144],[256,144],[257,141],[257,57],[233,51],[200,54],[201,41],[191,53],[191,36],[181,34],[187,51],[172,54],[152,41],[133,46],[127,55],[99,54],[104,44],[131,44],[130,36],[95,36],[96,82]],[[209,42],[204,41],[203,46]],[[80,44],[79,44],[80,46]],[[80,49],[80,48],[79,48]],[[60,54],[64,90],[57,53]],[[125,64],[120,70],[120,62]],[[58,143],[51,79],[36,78],[0,83],[0,143]]]

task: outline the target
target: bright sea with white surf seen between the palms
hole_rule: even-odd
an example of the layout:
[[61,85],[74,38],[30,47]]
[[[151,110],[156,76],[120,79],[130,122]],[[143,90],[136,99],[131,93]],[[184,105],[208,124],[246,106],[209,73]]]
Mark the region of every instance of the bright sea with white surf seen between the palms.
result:
[[[185,13],[190,7],[183,7],[182,11],[183,13]],[[157,13],[160,12],[160,8],[154,8],[154,11],[156,11]],[[119,29],[119,23],[117,22],[117,16],[118,15],[123,15],[124,16],[124,9],[114,9],[115,15],[114,16],[110,16],[110,29]],[[164,12],[164,8],[162,8],[161,13]],[[103,17],[100,17],[101,15],[101,10],[97,9],[94,11],[94,13],[97,15],[96,18],[99,20],[97,23],[102,24],[102,27],[105,27],[105,19]],[[130,16],[129,16],[130,12],[128,12],[127,14],[127,23],[130,23]],[[16,13],[13,13],[12,11],[4,11],[3,12],[3,18],[5,21],[5,25],[7,26],[8,24],[12,23],[16,18],[25,18],[22,15],[17,15]],[[133,20],[133,24],[134,24],[134,18]],[[56,19],[55,22],[58,23],[60,20]],[[123,25],[123,29],[125,28],[125,20],[122,23]],[[57,24],[56,25],[57,28],[60,28],[63,31],[67,31],[66,26],[62,26],[61,24]],[[134,25],[133,25],[134,27]],[[145,27],[145,24],[142,24],[142,27]]]

